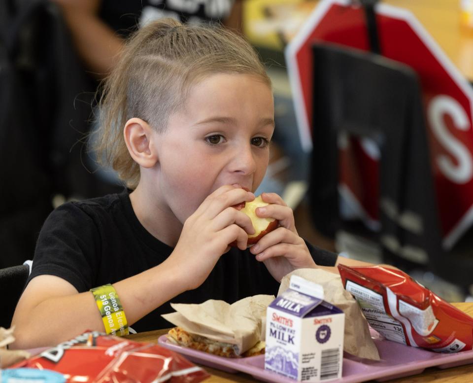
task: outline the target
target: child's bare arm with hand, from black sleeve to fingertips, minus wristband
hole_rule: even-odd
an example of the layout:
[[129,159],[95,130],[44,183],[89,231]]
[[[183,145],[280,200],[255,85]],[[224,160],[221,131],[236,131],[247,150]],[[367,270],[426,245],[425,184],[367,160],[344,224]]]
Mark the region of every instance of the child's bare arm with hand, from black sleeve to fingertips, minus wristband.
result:
[[[247,233],[253,234],[251,221],[232,206],[253,199],[252,193],[239,187],[222,186],[186,220],[166,261],[113,283],[129,325],[176,295],[200,286],[229,249],[228,244],[237,241],[241,249],[246,248]],[[51,275],[30,281],[12,324],[16,326],[15,348],[53,346],[84,330],[104,331],[92,293],[78,293],[71,283]]]

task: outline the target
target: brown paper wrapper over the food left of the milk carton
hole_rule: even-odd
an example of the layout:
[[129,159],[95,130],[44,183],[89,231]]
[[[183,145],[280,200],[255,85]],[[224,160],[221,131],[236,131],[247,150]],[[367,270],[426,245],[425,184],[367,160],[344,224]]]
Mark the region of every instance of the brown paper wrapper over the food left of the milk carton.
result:
[[192,334],[236,345],[239,355],[260,341],[261,319],[273,300],[273,295],[255,295],[232,305],[213,299],[202,304],[171,303],[176,312],[162,316]]

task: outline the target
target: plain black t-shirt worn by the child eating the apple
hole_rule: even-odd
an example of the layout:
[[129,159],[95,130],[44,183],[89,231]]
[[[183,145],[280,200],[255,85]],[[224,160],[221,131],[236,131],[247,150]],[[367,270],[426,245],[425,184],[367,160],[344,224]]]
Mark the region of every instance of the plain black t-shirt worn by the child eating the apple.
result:
[[[309,249],[318,265],[335,265],[336,254],[310,245]],[[140,224],[125,190],[55,209],[39,234],[29,280],[42,274],[54,275],[84,292],[157,266],[172,250]],[[256,294],[275,295],[278,288],[278,282],[253,254],[232,248],[220,257],[201,286],[171,301],[202,303],[218,299],[233,303]],[[170,327],[161,314],[173,311],[168,302],[132,327],[136,331]]]

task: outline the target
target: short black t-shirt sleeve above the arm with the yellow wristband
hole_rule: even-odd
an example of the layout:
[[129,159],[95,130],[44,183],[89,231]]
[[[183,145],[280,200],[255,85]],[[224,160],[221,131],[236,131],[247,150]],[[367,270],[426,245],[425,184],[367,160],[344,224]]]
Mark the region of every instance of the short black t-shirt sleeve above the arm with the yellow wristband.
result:
[[88,291],[98,269],[99,246],[94,219],[76,203],[60,206],[41,228],[28,282],[39,275],[54,275],[79,292]]

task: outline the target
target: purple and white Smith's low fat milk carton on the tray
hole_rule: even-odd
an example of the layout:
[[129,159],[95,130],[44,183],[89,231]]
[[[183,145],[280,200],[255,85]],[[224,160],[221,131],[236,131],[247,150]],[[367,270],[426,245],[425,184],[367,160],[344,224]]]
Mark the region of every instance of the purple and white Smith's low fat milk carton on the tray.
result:
[[265,369],[303,382],[341,378],[344,328],[322,286],[292,276],[267,310]]

